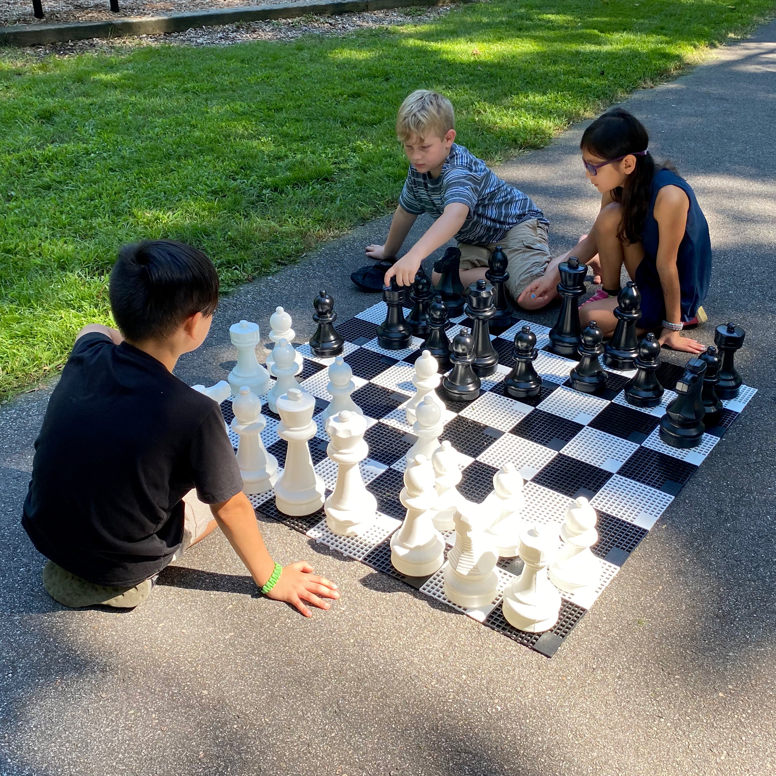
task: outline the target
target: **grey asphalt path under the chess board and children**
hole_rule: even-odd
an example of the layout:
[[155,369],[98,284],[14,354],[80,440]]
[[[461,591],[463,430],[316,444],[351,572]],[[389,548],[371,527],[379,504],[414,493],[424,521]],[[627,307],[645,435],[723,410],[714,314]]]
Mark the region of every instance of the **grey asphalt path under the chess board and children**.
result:
[[[269,523],[277,559],[310,559],[338,582],[331,611],[305,620],[256,597],[218,532],[137,610],[65,610],[43,591],[44,559],[19,525],[50,389],[0,407],[0,774],[776,769],[774,100],[776,23],[625,102],[708,216],[711,320],[693,336],[711,344],[712,324],[743,325],[738,363],[759,393],[552,660]],[[597,210],[583,129],[500,168],[548,214],[556,251]],[[223,379],[235,358],[228,325],[248,318],[268,331],[279,304],[309,337],[319,288],[343,320],[376,301],[348,275],[388,223],[226,296],[178,374]]]

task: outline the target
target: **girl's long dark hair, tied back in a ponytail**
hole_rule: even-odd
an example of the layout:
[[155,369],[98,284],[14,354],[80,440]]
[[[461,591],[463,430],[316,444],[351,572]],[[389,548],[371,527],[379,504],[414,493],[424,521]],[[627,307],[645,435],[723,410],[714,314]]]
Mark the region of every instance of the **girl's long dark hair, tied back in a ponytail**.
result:
[[[649,144],[650,136],[636,116],[622,108],[612,108],[584,130],[580,148],[601,159],[616,159],[646,151]],[[671,168],[668,164],[662,166]],[[622,205],[622,220],[617,234],[621,240],[631,243],[641,241],[656,171],[652,154],[637,156],[636,169],[628,176],[625,185],[611,192],[615,202]]]

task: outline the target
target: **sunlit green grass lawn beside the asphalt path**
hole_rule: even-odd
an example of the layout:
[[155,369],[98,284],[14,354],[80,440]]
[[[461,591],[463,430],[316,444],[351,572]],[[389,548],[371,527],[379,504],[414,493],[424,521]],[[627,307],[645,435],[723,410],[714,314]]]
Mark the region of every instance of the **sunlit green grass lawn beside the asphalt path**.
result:
[[[730,0],[727,0],[730,2]],[[497,161],[768,16],[774,0],[493,0],[434,23],[217,48],[0,54],[0,394],[109,320],[116,248],[175,237],[226,287],[396,202],[414,88]],[[479,52],[476,54],[474,52]]]

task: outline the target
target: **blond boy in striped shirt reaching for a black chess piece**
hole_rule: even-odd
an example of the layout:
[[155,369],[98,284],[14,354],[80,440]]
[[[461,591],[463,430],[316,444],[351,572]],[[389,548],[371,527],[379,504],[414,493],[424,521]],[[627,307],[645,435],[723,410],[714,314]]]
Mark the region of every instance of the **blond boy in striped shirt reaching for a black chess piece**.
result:
[[386,243],[369,245],[366,255],[376,260],[397,255],[415,219],[429,213],[434,224],[386,272],[386,285],[395,275],[400,286],[409,286],[423,259],[455,237],[464,286],[485,277],[499,244],[509,260],[507,287],[516,300],[549,262],[549,222],[528,196],[453,142],[454,123],[451,102],[436,92],[418,89],[402,102],[396,130],[410,169]]

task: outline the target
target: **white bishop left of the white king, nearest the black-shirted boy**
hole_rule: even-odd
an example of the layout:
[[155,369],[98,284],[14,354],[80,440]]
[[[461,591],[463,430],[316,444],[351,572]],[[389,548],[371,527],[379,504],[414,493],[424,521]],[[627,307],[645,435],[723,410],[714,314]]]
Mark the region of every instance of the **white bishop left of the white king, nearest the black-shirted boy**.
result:
[[262,400],[242,386],[232,402],[232,431],[240,436],[237,466],[243,478],[243,493],[265,493],[278,479],[278,460],[265,449],[262,431],[267,423],[262,415]]

